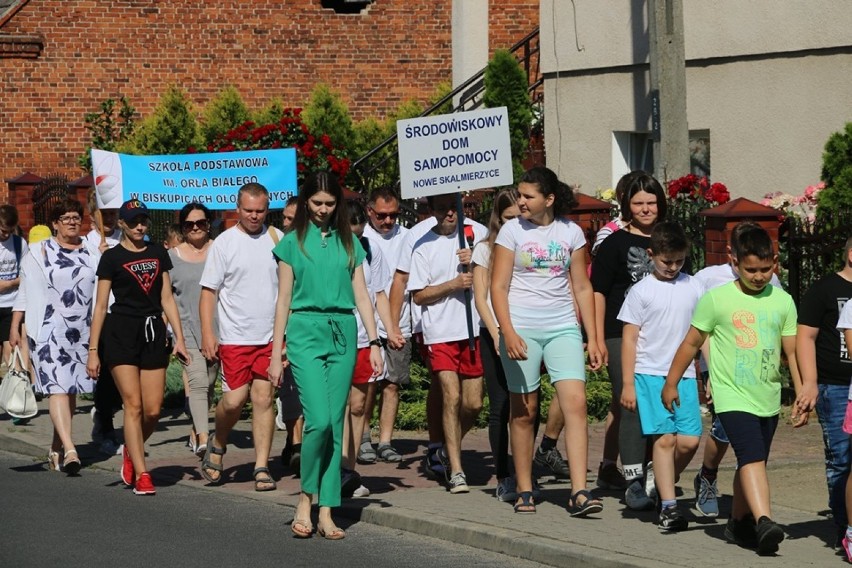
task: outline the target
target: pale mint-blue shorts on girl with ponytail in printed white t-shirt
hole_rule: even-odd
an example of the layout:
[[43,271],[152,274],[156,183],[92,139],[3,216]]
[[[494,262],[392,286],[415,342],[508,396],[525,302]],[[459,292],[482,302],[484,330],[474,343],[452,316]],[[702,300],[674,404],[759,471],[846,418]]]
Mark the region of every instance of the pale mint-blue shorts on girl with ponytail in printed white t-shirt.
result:
[[502,334],[500,335],[500,360],[506,373],[509,392],[537,391],[541,386],[542,360],[551,383],[567,379],[586,380],[586,354],[583,352],[583,336],[579,326],[549,331],[515,331],[527,344],[527,358],[524,361],[509,359],[506,355],[506,343]]

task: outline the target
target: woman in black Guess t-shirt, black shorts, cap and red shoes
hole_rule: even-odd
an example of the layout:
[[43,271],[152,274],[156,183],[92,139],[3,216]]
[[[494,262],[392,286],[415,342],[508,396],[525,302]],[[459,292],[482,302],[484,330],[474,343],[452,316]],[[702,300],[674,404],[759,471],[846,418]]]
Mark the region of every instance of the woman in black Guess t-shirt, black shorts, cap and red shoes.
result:
[[[151,222],[148,208],[138,199],[125,201],[118,211],[121,242],[104,252],[98,264],[98,299],[92,314],[87,368],[95,378],[106,365],[115,379],[124,405],[124,452],[121,480],[136,495],[157,490],[145,466],[145,440],[154,432],[166,386],[169,346],[166,322],[172,326],[172,352],[190,363],[172,295],[168,271],[172,261],[161,245],[145,241]],[[107,314],[110,293],[115,297]],[[106,344],[104,360],[98,345]]]

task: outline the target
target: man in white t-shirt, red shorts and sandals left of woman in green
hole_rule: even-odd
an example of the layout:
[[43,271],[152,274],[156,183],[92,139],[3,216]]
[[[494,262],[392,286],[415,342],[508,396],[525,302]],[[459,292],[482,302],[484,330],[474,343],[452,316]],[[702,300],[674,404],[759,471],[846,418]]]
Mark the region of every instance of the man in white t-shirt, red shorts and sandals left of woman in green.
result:
[[[276,487],[267,467],[275,431],[275,389],[266,372],[278,298],[278,266],[272,249],[283,233],[264,225],[268,211],[265,187],[247,183],[239,189],[239,222],[210,246],[199,301],[201,352],[206,359],[222,363],[222,399],[216,406],[215,435],[207,444],[201,475],[213,484],[223,481],[228,435],[251,397],[255,491]],[[213,328],[214,309],[218,338]]]

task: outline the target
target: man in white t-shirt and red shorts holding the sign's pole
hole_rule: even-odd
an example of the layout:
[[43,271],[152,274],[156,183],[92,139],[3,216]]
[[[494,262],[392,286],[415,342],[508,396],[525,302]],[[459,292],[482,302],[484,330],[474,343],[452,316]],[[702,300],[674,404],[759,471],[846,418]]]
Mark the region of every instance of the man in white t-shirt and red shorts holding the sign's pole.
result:
[[[429,366],[443,393],[441,422],[444,465],[451,493],[470,491],[461,465],[461,442],[482,409],[482,360],[479,356],[479,314],[470,299],[473,275],[468,272],[471,249],[487,231],[481,225],[462,227],[467,247],[459,246],[454,194],[429,198],[435,226],[417,240],[411,258],[408,289],[421,306],[423,343]],[[467,300],[465,298],[467,291]],[[473,349],[465,303],[473,316]]]

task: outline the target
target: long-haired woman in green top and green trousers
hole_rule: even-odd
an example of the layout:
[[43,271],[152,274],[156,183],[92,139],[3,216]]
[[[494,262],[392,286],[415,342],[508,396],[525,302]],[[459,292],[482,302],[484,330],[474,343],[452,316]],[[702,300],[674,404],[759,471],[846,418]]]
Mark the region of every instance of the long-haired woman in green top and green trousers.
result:
[[354,309],[372,340],[374,375],[382,372],[382,356],[361,266],[366,253],[352,238],[336,178],[320,172],[305,180],[292,230],[273,253],[278,301],[269,378],[279,384],[283,365],[292,366],[305,416],[302,492],[291,528],[297,537],[311,536],[311,503],[318,494],[317,532],[338,540],[346,534],[334,524],[331,507],[340,505],[343,419],[357,353]]

